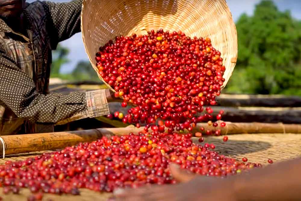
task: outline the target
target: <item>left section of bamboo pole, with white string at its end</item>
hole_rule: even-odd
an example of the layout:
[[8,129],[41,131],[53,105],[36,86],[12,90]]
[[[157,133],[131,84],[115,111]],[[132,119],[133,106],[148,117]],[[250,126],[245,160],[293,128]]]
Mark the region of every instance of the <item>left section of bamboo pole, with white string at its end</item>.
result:
[[[143,128],[128,126],[125,128],[101,128],[70,132],[51,132],[38,134],[24,134],[1,136],[3,143],[0,142],[0,155],[12,155],[19,153],[37,152],[45,150],[55,150],[73,146],[79,142],[92,142],[103,136],[125,135],[131,132],[138,133]],[[2,153],[2,150],[5,150]]]

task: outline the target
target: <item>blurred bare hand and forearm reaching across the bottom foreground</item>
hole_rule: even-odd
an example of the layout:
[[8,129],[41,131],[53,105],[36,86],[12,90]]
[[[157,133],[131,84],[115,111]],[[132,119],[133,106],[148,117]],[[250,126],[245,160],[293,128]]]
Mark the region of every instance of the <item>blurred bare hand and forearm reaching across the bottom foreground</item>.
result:
[[255,168],[226,178],[188,174],[177,165],[170,172],[179,184],[114,192],[116,201],[299,201],[301,158]]

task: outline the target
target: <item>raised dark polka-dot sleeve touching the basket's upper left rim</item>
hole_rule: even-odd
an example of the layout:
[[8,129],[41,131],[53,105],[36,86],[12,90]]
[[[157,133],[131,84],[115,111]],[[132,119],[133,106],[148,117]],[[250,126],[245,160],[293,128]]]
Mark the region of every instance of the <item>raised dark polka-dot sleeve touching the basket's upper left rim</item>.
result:
[[47,32],[51,39],[51,48],[81,31],[80,15],[82,0],[73,0],[65,3],[43,2],[48,18]]

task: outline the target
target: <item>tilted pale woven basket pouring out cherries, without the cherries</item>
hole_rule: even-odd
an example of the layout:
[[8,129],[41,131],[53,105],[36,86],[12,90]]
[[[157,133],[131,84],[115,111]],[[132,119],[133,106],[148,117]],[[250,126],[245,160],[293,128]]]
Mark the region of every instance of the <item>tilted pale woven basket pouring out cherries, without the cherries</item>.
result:
[[99,47],[116,36],[147,34],[151,29],[211,38],[226,67],[222,88],[236,64],[237,33],[225,0],[84,0],[81,20],[85,50],[102,81],[95,65]]

